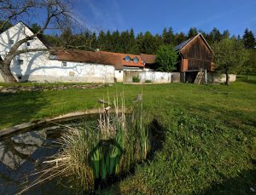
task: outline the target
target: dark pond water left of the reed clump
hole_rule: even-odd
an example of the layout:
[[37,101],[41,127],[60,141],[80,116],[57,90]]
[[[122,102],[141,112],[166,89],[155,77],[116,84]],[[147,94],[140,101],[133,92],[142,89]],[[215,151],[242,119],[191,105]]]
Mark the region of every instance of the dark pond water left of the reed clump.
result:
[[[90,116],[90,123],[92,118]],[[74,126],[84,123],[89,118],[76,120],[65,125]],[[14,135],[8,135],[0,140],[0,194],[15,194],[20,192],[24,183],[35,179],[32,176],[39,170],[42,162],[54,155],[59,150],[55,143],[61,136],[61,132],[69,130],[66,126],[59,124],[43,129],[20,131]],[[44,184],[33,187],[22,194],[71,194],[67,187],[60,184],[60,181],[48,181]]]

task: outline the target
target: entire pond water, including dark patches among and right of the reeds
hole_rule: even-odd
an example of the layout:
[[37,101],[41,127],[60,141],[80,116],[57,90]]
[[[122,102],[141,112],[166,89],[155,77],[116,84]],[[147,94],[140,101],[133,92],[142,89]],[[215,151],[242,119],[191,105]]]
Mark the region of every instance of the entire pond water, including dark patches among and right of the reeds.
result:
[[[70,127],[81,126],[84,123],[95,126],[98,117],[98,114],[90,114],[85,118],[59,124],[51,123],[40,129],[20,131],[19,133],[2,137],[0,140],[0,194],[15,194],[24,189],[29,182],[35,181],[38,175],[33,174],[41,170],[45,160],[60,151],[61,147],[56,141],[61,137],[61,133],[70,131]],[[150,160],[150,158],[154,157],[154,151],[160,149],[161,143],[164,141],[164,133],[157,120],[152,121],[148,126],[151,137],[151,148],[148,152],[148,160]],[[136,137],[134,141],[137,140]],[[102,145],[104,147],[106,147],[105,142]],[[102,142],[100,141],[100,143]],[[96,150],[98,150],[97,146]],[[131,171],[129,172],[131,174]],[[73,186],[67,186],[66,180],[67,178],[55,178],[55,180],[33,186],[22,194],[76,193],[73,190]],[[113,181],[118,180],[114,179]],[[102,184],[103,188],[105,188],[109,185],[109,182]],[[98,188],[99,186],[96,186],[96,189]]]

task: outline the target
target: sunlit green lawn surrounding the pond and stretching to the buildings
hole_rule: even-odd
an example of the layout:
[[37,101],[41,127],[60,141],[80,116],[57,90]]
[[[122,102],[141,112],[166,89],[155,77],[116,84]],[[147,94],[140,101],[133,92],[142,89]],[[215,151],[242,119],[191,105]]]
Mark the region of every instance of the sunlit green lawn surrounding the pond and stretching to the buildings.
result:
[[[170,194],[256,191],[256,76],[229,87],[168,83],[143,85],[143,107],[165,129],[165,141],[150,161],[98,193]],[[32,119],[100,106],[125,91],[131,106],[140,85],[102,89],[22,92],[0,95],[0,129]]]

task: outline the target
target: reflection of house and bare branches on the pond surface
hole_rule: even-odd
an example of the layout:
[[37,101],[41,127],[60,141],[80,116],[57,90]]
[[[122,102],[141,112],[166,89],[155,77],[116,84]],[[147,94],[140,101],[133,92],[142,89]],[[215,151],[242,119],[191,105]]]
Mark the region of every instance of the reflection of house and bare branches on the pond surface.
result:
[[58,147],[53,145],[55,139],[48,133],[49,129],[41,129],[0,141],[0,194],[19,192],[27,175],[35,171],[44,158],[57,152]]

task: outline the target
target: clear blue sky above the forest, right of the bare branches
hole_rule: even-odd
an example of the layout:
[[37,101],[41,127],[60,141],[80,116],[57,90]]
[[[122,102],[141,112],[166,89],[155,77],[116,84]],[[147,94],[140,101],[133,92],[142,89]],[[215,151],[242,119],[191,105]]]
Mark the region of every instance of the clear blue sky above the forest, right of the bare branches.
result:
[[256,34],[256,0],[77,0],[74,12],[90,29],[134,29],[161,33],[172,26],[174,32],[196,27],[210,32],[242,35],[249,28]]

